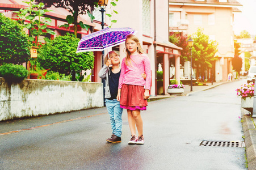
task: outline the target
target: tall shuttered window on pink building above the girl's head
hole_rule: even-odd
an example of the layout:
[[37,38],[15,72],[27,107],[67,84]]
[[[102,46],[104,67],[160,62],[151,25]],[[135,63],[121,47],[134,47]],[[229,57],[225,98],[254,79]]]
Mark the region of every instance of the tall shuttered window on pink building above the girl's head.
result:
[[150,0],[142,0],[142,34],[150,36]]

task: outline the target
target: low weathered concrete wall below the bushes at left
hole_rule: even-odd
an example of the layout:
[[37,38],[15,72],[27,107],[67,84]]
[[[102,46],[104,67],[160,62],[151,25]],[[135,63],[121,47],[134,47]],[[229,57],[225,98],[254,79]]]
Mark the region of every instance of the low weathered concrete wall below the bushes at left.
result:
[[0,121],[103,107],[103,84],[0,78]]

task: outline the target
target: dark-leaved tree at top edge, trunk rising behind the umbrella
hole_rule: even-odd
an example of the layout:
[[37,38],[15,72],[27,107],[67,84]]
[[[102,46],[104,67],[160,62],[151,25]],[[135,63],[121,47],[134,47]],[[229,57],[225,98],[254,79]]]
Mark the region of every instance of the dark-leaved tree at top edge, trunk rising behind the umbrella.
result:
[[[78,25],[78,16],[88,14],[93,20],[94,16],[90,14],[90,10],[94,10],[94,5],[98,5],[99,0],[83,0],[83,1],[74,1],[74,0],[35,0],[40,3],[43,2],[45,7],[62,7],[67,9],[73,14],[67,18],[68,23],[72,22],[74,24],[74,35],[77,37],[77,25]],[[82,28],[88,29],[88,25],[79,22]]]

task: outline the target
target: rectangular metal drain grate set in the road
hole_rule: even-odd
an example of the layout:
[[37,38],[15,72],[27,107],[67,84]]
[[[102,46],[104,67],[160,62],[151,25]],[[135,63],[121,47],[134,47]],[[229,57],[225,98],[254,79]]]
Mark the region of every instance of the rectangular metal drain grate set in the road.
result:
[[245,147],[244,141],[202,141],[199,146]]

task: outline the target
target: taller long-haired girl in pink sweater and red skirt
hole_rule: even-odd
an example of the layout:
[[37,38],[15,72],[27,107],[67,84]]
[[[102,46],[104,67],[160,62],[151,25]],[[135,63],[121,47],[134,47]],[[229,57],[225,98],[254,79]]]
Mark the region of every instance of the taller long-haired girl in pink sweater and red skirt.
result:
[[[132,138],[129,144],[144,144],[143,122],[140,111],[146,110],[149,98],[151,69],[148,56],[143,54],[139,39],[135,35],[128,35],[125,40],[127,56],[121,65],[117,101],[120,107],[127,109],[129,128]],[[141,73],[146,73],[146,80]],[[145,88],[145,89],[144,89]],[[136,128],[139,136],[136,136]]]

